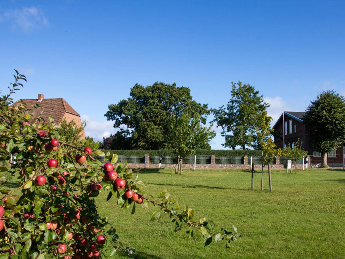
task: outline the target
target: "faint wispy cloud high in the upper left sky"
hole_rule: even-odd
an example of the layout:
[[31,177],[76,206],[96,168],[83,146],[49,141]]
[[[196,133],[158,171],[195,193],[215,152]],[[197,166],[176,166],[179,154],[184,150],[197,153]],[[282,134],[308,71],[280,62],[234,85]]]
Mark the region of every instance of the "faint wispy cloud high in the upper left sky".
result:
[[31,32],[33,29],[49,25],[42,10],[37,7],[23,7],[22,9],[4,12],[0,16],[0,21],[9,21],[14,29],[19,27],[25,32]]

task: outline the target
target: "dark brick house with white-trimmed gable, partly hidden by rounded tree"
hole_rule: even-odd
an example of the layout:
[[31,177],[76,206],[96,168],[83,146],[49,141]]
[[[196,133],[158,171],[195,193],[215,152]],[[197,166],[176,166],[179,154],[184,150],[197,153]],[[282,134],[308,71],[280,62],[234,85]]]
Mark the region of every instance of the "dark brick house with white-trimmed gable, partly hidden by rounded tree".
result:
[[[305,112],[284,112],[280,115],[274,128],[274,143],[278,148],[283,148],[283,135],[285,146],[290,143],[299,141],[303,142],[302,147],[308,152],[311,157],[312,166],[319,166],[322,162],[320,152],[313,151],[312,140],[307,125],[303,121]],[[293,147],[293,146],[291,146]],[[345,142],[339,141],[339,146],[336,150],[327,154],[327,164],[329,166],[343,166],[343,154],[345,154]]]

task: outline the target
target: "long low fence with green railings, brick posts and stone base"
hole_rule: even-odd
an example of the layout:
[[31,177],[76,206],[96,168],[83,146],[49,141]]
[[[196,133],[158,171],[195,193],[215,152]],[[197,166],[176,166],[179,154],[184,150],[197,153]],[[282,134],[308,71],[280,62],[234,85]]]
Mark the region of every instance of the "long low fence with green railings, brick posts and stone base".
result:
[[[93,158],[102,162],[104,156],[94,155]],[[137,168],[171,168],[177,164],[176,156],[128,156],[119,155],[118,163],[125,163],[127,161],[130,167]],[[182,160],[184,168],[198,168],[198,169],[219,169],[219,168],[246,168],[250,169],[251,165],[254,167],[262,167],[261,156],[188,156]],[[310,167],[310,159],[308,159]],[[287,158],[285,156],[274,157],[270,164],[272,169],[286,168]],[[293,165],[294,166],[294,165]],[[297,168],[304,168],[303,159],[296,161]]]

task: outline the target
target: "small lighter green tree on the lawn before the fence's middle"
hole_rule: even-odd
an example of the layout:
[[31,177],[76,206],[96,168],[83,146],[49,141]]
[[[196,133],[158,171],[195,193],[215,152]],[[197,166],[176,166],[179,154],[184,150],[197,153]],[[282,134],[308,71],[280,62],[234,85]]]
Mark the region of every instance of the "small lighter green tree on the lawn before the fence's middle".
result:
[[177,156],[175,173],[182,172],[182,159],[194,155],[198,148],[204,147],[216,136],[211,126],[201,125],[200,116],[191,117],[184,112],[180,117],[172,116],[169,138]]

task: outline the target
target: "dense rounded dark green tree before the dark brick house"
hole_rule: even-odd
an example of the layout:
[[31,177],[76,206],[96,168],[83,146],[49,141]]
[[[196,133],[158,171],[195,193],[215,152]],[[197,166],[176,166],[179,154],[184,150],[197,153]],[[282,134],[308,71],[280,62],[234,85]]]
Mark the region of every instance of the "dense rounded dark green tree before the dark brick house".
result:
[[327,166],[327,153],[345,139],[345,100],[334,90],[320,93],[304,115],[313,141],[313,150],[321,152],[322,165]]

